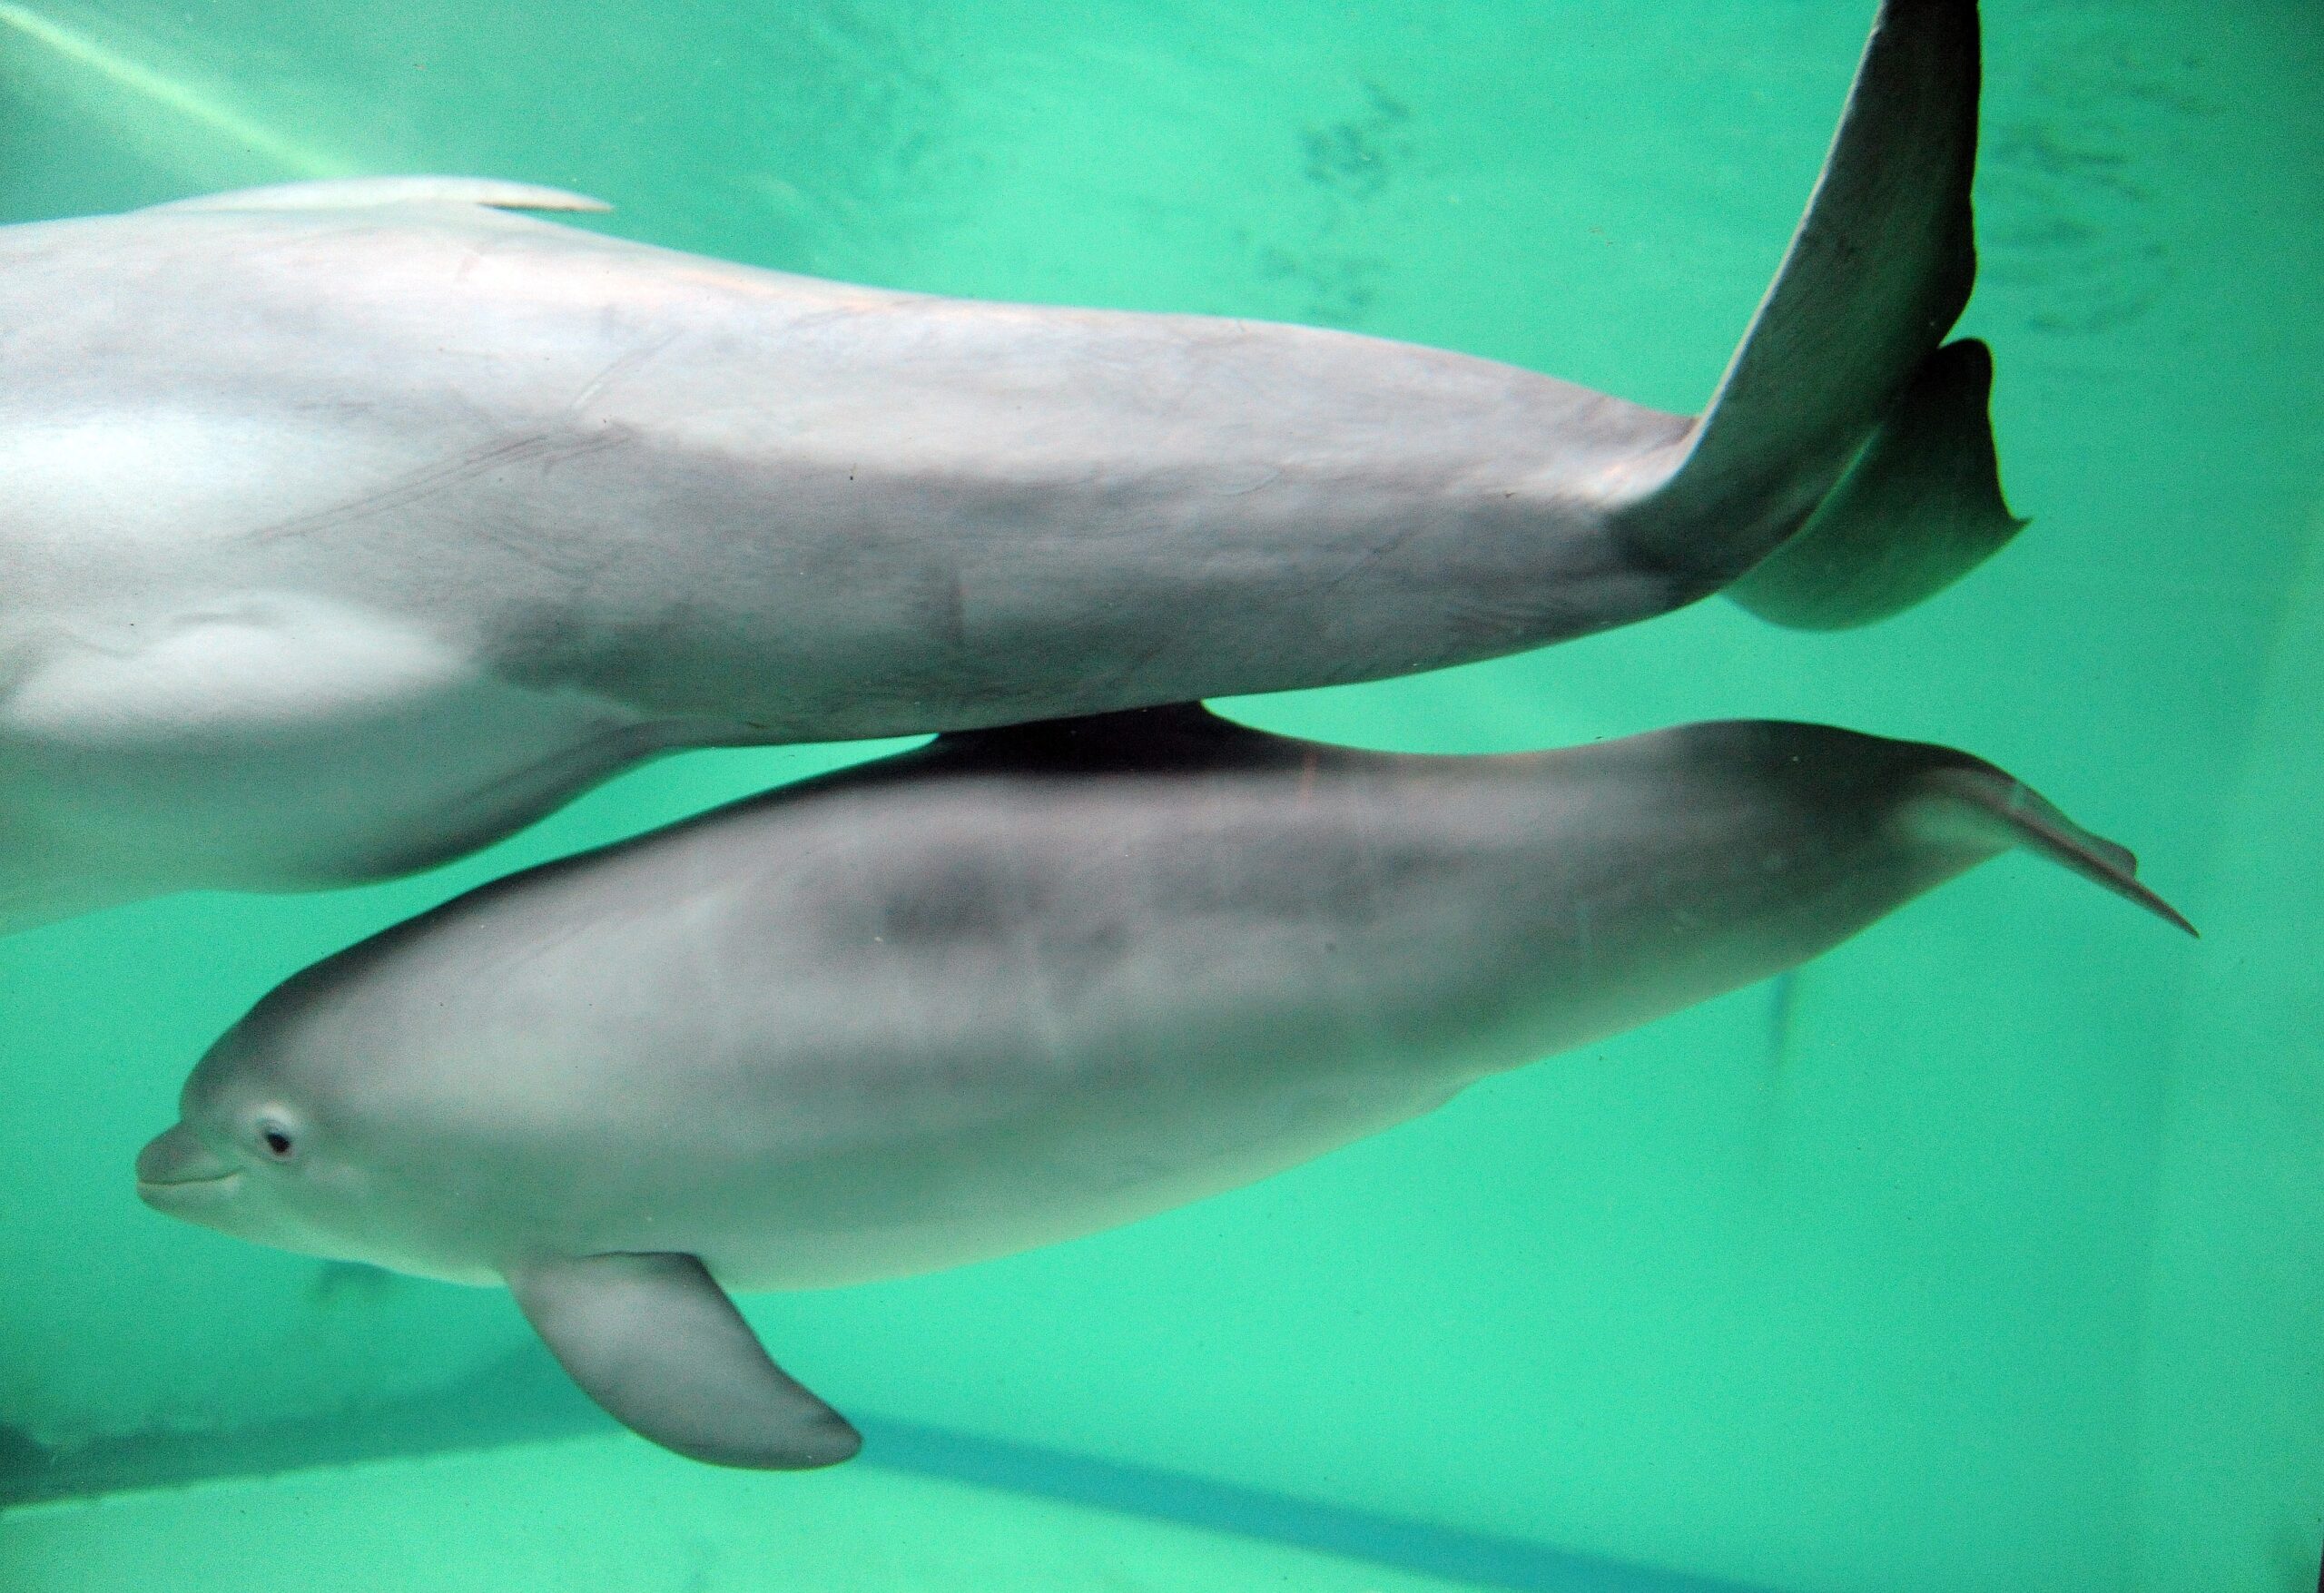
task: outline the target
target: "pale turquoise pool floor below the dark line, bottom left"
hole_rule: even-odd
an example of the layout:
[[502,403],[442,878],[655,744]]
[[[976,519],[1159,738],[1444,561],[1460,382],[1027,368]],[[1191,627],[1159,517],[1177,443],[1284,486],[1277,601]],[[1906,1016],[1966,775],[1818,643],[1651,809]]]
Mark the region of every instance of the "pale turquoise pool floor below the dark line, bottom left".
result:
[[1450,1593],[1476,1584],[874,1465],[767,1477],[625,1435],[0,1514],[9,1593]]

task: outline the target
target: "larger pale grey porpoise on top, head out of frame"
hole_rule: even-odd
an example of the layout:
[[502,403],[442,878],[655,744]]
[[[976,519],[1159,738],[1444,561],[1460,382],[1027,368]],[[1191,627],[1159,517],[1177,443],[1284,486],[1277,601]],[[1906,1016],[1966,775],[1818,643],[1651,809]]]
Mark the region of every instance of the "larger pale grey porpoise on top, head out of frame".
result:
[[1973,0],[1887,0],[1701,420],[1346,332],[704,260],[483,179],[0,228],[0,929],[462,855],[690,745],[1855,625],[2017,520]]

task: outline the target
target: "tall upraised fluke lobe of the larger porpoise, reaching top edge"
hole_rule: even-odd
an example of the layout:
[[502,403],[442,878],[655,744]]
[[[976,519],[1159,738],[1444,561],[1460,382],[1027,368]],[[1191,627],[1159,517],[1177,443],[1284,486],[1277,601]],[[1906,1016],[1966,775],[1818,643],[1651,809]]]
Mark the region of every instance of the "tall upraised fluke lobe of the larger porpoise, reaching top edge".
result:
[[[1975,0],[1882,0],[1776,283],[1678,469],[1622,513],[1636,557],[1694,594],[1727,588],[1810,520],[1924,372],[1978,274],[1978,93]],[[1945,522],[1885,532],[1957,546]]]

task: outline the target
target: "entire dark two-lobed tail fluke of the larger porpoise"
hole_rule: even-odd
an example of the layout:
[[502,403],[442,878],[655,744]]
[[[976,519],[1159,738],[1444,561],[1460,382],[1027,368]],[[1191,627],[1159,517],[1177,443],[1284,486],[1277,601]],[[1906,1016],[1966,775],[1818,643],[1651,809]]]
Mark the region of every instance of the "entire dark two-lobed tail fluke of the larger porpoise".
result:
[[2001,506],[1982,344],[1943,348],[1978,274],[1975,0],[1882,0],[1783,267],[1678,469],[1620,518],[1692,597],[1794,541],[1738,599],[1864,625],[2017,529]]

